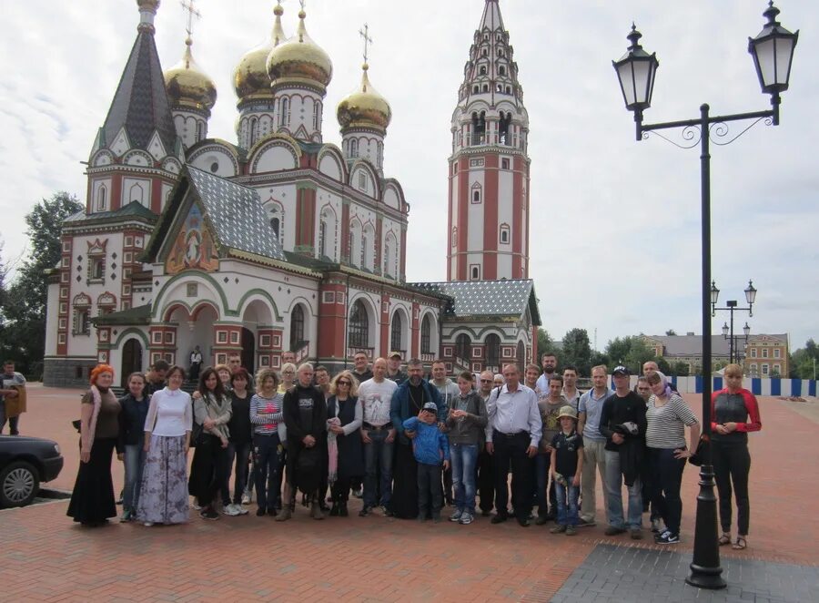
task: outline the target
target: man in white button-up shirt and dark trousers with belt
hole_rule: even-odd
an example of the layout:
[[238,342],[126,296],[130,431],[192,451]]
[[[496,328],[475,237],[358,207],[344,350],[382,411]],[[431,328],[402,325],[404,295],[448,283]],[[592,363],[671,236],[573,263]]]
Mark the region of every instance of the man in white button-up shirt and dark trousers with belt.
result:
[[486,405],[489,417],[486,450],[495,461],[496,514],[492,523],[500,524],[509,518],[507,473],[511,463],[512,506],[518,524],[529,527],[532,459],[538,454],[542,431],[538,396],[520,383],[521,370],[517,364],[506,364],[503,376],[506,384],[492,390]]

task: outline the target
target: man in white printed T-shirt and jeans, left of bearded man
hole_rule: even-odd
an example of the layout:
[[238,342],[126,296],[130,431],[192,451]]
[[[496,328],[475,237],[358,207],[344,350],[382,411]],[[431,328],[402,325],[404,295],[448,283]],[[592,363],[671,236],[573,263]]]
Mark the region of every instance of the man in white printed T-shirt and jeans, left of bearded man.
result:
[[[361,440],[364,442],[364,507],[359,516],[369,516],[377,504],[385,516],[392,516],[392,456],[395,426],[389,419],[392,395],[398,389],[387,379],[387,361],[372,364],[372,379],[359,386],[359,402],[364,411]],[[376,480],[379,478],[377,482]],[[376,500],[380,485],[380,500]]]

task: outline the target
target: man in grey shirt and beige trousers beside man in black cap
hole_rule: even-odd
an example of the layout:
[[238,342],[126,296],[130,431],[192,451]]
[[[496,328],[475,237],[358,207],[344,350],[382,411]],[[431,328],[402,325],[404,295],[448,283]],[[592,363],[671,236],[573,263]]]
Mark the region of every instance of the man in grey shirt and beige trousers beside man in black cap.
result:
[[[584,458],[581,475],[581,519],[578,526],[589,527],[595,525],[597,513],[597,473],[606,493],[606,438],[600,433],[600,414],[602,405],[614,392],[606,385],[606,365],[599,364],[591,368],[591,383],[593,387],[581,395],[579,422],[577,433],[583,436]],[[611,522],[610,522],[611,523]]]

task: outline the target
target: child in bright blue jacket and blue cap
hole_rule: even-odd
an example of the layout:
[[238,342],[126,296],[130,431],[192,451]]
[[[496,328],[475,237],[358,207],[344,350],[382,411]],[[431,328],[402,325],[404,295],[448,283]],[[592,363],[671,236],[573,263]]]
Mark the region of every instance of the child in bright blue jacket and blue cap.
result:
[[438,405],[428,402],[418,416],[410,416],[403,424],[405,431],[417,434],[412,440],[412,452],[418,461],[418,520],[427,519],[431,498],[432,521],[436,524],[440,523],[443,506],[441,470],[450,467],[450,445],[447,436],[440,433],[437,417]]

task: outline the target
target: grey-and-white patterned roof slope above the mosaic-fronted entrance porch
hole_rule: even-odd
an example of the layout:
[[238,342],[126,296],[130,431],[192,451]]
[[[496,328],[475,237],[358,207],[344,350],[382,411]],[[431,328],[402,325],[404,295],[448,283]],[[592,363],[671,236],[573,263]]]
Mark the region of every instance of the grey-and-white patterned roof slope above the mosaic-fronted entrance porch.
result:
[[191,166],[187,175],[220,245],[287,261],[255,189]]

